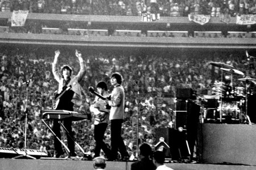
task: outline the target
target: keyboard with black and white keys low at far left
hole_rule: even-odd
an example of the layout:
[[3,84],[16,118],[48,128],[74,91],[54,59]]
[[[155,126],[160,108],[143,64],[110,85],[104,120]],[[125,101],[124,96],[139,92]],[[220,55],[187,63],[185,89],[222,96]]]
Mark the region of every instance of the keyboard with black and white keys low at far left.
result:
[[39,151],[39,150],[30,150],[30,149],[19,149],[19,148],[5,148],[0,147],[0,158],[14,158],[18,155],[25,155],[27,152],[27,155],[33,156],[36,159],[39,159],[41,157],[48,156],[45,152]]

